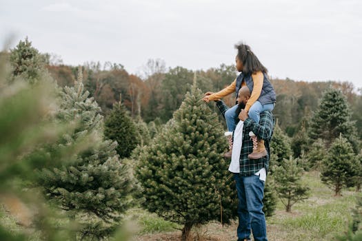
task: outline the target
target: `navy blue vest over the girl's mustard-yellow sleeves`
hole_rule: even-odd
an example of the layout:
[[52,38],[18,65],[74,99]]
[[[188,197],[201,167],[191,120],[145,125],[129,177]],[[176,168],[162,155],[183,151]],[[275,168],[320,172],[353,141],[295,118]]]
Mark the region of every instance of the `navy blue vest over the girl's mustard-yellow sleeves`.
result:
[[[263,73],[264,75],[264,81],[263,81],[263,88],[261,89],[261,94],[257,101],[261,103],[261,105],[275,103],[276,101],[276,94],[274,91],[274,88],[272,87],[272,84],[270,83],[268,76]],[[254,87],[254,82],[252,81],[252,75],[251,74],[243,74],[241,72],[239,76],[237,76],[237,85],[235,87],[235,91],[237,92],[236,96],[238,98],[239,90],[241,88],[241,82],[245,81],[246,86],[248,86],[250,93],[252,92],[252,89]]]

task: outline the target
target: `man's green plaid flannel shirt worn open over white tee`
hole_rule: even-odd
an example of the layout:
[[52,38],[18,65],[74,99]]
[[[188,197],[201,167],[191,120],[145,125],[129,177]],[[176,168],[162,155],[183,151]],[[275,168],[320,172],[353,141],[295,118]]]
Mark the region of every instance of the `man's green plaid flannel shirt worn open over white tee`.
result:
[[[225,118],[225,112],[229,109],[223,101],[217,101],[217,107]],[[274,116],[272,112],[265,111],[260,114],[260,121],[256,123],[252,118],[247,118],[243,126],[243,145],[240,154],[240,175],[252,176],[256,174],[261,168],[265,167],[268,171],[270,160],[270,147],[269,143],[272,139],[274,129]],[[248,155],[252,153],[252,140],[250,139],[249,132],[254,132],[258,138],[264,140],[265,148],[268,155],[259,159],[249,159]]]

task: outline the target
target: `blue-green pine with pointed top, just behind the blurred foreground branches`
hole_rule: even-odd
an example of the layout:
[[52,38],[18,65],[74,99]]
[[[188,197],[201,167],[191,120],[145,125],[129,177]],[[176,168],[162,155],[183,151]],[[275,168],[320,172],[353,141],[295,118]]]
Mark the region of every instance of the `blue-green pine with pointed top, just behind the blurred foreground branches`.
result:
[[[119,162],[117,143],[103,140],[101,109],[83,88],[81,68],[74,87],[65,87],[57,120],[77,121],[74,132],[63,136],[57,145],[74,145],[79,138],[88,138],[92,145],[81,151],[69,165],[42,169],[39,185],[46,196],[59,204],[81,227],[78,238],[102,239],[110,235],[121,220],[121,213],[130,205],[132,191],[128,170]],[[57,149],[53,146],[52,149]]]

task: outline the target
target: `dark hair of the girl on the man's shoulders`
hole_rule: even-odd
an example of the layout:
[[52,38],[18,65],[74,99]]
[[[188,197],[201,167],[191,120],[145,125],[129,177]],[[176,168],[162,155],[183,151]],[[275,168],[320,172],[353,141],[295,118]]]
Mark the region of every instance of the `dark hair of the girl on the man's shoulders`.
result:
[[262,65],[257,58],[257,56],[252,52],[249,45],[239,43],[235,45],[235,48],[238,50],[237,57],[243,62],[243,73],[244,74],[254,74],[255,72],[261,71],[265,74],[268,73],[268,70],[264,65]]

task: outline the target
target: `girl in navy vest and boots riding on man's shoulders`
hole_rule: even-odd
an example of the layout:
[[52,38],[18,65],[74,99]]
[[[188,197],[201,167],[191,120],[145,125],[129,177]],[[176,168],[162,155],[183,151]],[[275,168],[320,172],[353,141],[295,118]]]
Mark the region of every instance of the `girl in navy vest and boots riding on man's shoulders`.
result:
[[[206,92],[203,101],[208,103],[209,101],[217,101],[220,98],[236,93],[238,98],[238,92],[242,86],[247,86],[252,93],[248,102],[245,105],[245,111],[248,116],[255,122],[259,123],[260,113],[274,109],[276,94],[272,84],[268,79],[268,70],[264,67],[257,56],[250,50],[248,45],[240,43],[235,45],[238,50],[238,54],[235,58],[237,70],[240,72],[239,76],[225,89],[213,93]],[[226,125],[228,125],[228,131],[234,132],[234,129],[239,121],[237,116],[237,107],[234,105],[225,112]],[[267,154],[263,140],[258,140],[254,133],[249,134],[253,141],[253,152],[248,156],[252,159],[258,159]],[[232,154],[232,136],[229,137],[229,151],[224,154],[225,157],[231,158]]]

